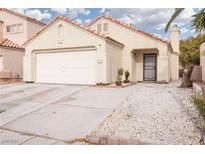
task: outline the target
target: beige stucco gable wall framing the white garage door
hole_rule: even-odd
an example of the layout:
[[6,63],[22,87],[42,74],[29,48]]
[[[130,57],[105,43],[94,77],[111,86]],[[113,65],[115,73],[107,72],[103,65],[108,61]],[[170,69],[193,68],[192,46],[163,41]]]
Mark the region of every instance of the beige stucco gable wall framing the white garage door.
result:
[[[63,26],[62,39],[60,41],[58,39],[59,25]],[[43,33],[35,37],[26,45],[24,57],[24,81],[35,81],[35,54],[33,54],[34,50],[49,51],[56,49],[56,52],[58,52],[58,50],[66,51],[67,48],[83,48],[88,46],[95,47],[97,52],[97,83],[110,83],[110,78],[107,76],[107,46],[105,39],[60,19],[50,25],[49,28],[47,28]],[[98,63],[98,61],[101,61],[101,63]]]

